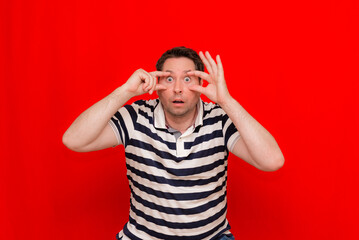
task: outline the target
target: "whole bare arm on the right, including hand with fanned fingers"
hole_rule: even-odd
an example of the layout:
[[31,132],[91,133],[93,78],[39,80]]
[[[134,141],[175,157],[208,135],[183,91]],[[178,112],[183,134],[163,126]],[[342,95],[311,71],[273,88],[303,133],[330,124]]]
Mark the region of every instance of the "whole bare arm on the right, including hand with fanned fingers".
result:
[[230,95],[219,55],[216,57],[217,63],[208,52],[206,55],[200,52],[199,55],[209,74],[201,71],[189,74],[205,79],[208,85],[193,86],[192,90],[218,103],[238,129],[241,137],[232,153],[263,171],[281,168],[284,157],[274,137]]

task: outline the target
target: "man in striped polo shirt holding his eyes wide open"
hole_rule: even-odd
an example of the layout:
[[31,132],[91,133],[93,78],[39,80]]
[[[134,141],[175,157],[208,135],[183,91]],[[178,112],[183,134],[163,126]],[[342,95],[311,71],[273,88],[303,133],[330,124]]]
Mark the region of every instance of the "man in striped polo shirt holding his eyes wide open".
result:
[[[230,95],[219,56],[177,47],[156,68],[135,71],[83,112],[63,142],[79,152],[124,145],[131,206],[117,239],[234,239],[226,219],[229,152],[274,171],[284,163],[280,148]],[[159,99],[122,107],[154,91]]]

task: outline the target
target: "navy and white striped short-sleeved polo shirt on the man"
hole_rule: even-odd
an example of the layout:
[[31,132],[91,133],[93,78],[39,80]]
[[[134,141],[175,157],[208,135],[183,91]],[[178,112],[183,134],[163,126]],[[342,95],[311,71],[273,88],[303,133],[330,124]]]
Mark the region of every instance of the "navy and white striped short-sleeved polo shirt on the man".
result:
[[158,99],[122,107],[110,120],[125,147],[129,221],[118,239],[195,240],[228,234],[227,158],[239,133],[199,100],[195,124],[176,139]]

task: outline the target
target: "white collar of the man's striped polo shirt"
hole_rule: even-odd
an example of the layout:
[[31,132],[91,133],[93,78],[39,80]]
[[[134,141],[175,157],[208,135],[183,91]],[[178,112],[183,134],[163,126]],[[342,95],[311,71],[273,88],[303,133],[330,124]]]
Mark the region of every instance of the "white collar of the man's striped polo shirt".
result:
[[[165,112],[163,110],[162,103],[159,99],[158,99],[158,104],[156,105],[155,110],[153,112],[153,116],[154,116],[153,122],[154,122],[155,128],[167,129]],[[202,101],[202,99],[199,99],[198,103],[197,103],[197,116],[196,116],[196,120],[194,122],[194,127],[197,127],[200,125],[203,125],[203,101]]]

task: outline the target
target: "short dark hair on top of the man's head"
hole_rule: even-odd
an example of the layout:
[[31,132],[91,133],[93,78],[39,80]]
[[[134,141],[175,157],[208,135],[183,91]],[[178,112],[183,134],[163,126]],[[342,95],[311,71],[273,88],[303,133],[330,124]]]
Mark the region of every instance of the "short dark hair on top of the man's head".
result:
[[199,57],[196,51],[191,48],[186,48],[184,46],[181,47],[174,47],[170,50],[167,50],[160,59],[158,59],[156,63],[157,71],[162,71],[163,64],[169,58],[179,58],[179,57],[186,57],[191,59],[194,62],[195,69],[199,71],[204,71],[204,64],[202,59]]

